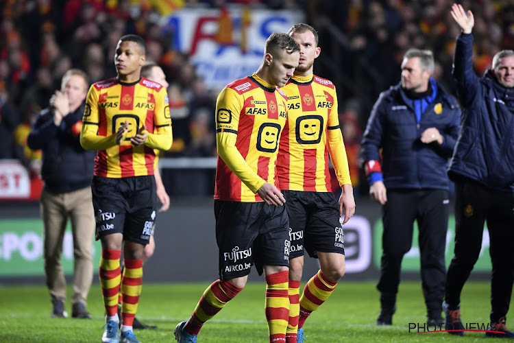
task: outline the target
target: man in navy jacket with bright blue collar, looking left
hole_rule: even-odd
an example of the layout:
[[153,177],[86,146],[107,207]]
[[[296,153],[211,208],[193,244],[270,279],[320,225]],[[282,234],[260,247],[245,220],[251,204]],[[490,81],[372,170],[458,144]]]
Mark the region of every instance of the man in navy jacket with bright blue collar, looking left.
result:
[[430,77],[433,71],[431,51],[408,50],[402,62],[402,81],[380,94],[364,134],[361,156],[369,194],[383,205],[383,252],[377,285],[381,311],[377,325],[392,324],[400,266],[412,246],[415,220],[428,324],[443,324],[450,186],[446,169],[461,109],[456,99]]

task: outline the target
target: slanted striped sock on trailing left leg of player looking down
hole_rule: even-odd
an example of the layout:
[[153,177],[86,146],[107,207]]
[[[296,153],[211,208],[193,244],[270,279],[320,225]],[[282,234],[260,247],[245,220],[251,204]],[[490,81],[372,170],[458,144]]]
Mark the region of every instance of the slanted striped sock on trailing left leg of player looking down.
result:
[[190,335],[197,335],[202,325],[221,311],[242,290],[243,288],[236,287],[230,281],[217,280],[213,282],[201,296],[184,330]]

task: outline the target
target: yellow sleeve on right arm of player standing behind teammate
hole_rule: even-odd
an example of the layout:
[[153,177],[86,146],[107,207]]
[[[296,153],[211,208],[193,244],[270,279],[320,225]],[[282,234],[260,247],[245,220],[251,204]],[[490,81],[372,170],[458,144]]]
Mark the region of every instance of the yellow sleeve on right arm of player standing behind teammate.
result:
[[350,180],[350,169],[348,168],[348,158],[346,156],[345,143],[343,142],[343,134],[339,126],[339,117],[337,110],[337,95],[334,89],[334,102],[328,115],[327,123],[327,146],[330,160],[334,165],[339,186],[352,185]]

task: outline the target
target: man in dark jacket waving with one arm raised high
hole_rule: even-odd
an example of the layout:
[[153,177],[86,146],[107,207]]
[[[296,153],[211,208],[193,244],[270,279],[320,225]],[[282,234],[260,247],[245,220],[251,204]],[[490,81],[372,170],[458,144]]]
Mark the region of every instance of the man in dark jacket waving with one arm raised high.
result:
[[[454,4],[461,27],[454,54],[454,78],[464,108],[448,174],[455,182],[455,256],[448,268],[446,329],[462,330],[461,291],[482,246],[487,221],[491,262],[490,337],[514,338],[505,327],[514,281],[514,51],[495,54],[483,78],[473,71],[474,16]],[[463,335],[463,331],[450,331]]]

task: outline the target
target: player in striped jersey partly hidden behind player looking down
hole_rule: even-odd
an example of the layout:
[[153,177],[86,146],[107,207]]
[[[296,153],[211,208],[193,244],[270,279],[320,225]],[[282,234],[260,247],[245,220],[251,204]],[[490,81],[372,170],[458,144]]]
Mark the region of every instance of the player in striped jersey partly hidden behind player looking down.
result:
[[[296,343],[304,340],[306,318],[332,294],[345,273],[342,224],[354,215],[355,202],[339,129],[336,89],[329,80],[313,74],[314,60],[321,51],[317,32],[309,25],[297,24],[288,34],[300,47],[300,59],[295,75],[281,88],[289,98],[289,111],[280,139],[277,174],[291,232],[286,342]],[[329,154],[342,189],[339,204],[330,189]],[[321,270],[299,298],[304,249],[319,259]]]

